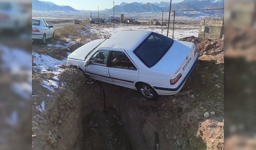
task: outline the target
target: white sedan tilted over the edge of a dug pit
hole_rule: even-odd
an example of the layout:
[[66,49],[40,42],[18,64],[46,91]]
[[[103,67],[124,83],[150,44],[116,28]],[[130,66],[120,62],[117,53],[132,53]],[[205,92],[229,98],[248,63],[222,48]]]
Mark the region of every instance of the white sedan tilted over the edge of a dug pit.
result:
[[197,59],[194,43],[123,30],[81,46],[68,56],[68,63],[84,71],[87,83],[101,80],[139,90],[153,100],[178,93]]

